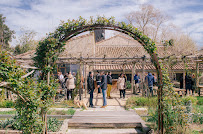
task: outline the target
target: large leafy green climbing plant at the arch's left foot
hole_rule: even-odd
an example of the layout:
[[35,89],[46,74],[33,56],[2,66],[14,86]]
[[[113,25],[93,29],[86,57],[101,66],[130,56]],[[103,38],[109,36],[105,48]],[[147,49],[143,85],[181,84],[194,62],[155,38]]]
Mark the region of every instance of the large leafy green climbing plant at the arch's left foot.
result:
[[53,79],[50,79],[49,84],[46,81],[36,82],[32,78],[23,77],[25,74],[7,52],[0,51],[0,83],[6,83],[2,85],[3,88],[17,95],[15,120],[19,129],[29,134],[45,128],[45,115],[52,105],[57,84]]

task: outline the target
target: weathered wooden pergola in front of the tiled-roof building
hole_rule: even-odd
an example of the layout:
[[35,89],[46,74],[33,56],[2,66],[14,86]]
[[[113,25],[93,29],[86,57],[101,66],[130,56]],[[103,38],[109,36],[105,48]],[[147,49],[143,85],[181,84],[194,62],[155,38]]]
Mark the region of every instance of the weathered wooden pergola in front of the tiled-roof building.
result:
[[[173,55],[171,55],[173,56]],[[166,56],[166,57],[160,57],[160,60],[168,60],[170,58],[170,56]],[[17,60],[31,60],[31,58],[16,58]],[[184,60],[192,60],[194,63],[193,65],[196,65],[196,87],[199,87],[199,79],[198,79],[198,75],[199,74],[199,70],[201,69],[202,71],[202,66],[203,64],[203,56],[202,55],[186,55],[186,56],[176,56],[174,60],[176,60],[178,63],[183,63]],[[151,58],[150,57],[146,57],[145,55],[143,55],[142,57],[106,57],[105,55],[103,55],[102,57],[59,57],[57,63],[63,63],[63,64],[79,64],[80,65],[80,75],[82,76],[82,72],[84,72],[83,76],[84,79],[87,79],[87,72],[88,71],[95,71],[96,66],[109,66],[109,68],[111,68],[112,66],[122,66],[122,68],[120,68],[119,70],[122,70],[123,73],[126,72],[126,66],[130,65],[131,66],[131,93],[133,93],[134,91],[134,75],[135,75],[135,65],[139,64],[141,66],[141,80],[142,82],[144,82],[144,76],[145,76],[145,65],[146,64],[151,64]],[[25,67],[25,66],[24,66]],[[28,67],[30,68],[30,67]],[[155,70],[155,67],[153,67]],[[194,68],[194,67],[193,67]],[[36,69],[36,68],[35,68]],[[84,69],[84,70],[83,70]],[[186,70],[183,69],[183,81],[185,81],[185,75],[186,75]],[[143,83],[141,83],[141,87],[143,88]],[[183,88],[185,89],[185,82],[183,82]],[[143,89],[144,90],[144,89]],[[86,92],[87,91],[87,81],[85,81],[85,97],[86,97]],[[200,91],[200,90],[199,90]],[[199,93],[200,94],[200,93]],[[144,94],[143,94],[144,95]],[[80,96],[81,98],[81,96]]]

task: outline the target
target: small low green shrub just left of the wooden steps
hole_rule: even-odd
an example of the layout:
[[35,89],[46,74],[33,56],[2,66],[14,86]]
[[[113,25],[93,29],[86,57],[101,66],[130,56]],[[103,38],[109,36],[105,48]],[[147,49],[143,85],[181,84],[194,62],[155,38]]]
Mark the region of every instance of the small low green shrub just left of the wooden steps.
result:
[[49,118],[47,122],[49,132],[58,132],[63,124],[63,121],[59,121],[56,118]]

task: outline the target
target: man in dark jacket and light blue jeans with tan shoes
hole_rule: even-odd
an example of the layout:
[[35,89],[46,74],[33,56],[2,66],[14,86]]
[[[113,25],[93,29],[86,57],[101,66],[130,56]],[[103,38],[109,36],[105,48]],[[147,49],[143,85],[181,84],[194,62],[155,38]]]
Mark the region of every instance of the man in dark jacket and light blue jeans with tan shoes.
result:
[[101,72],[101,85],[102,94],[103,94],[103,106],[101,108],[107,107],[106,101],[106,89],[107,89],[107,76],[104,74],[104,71]]

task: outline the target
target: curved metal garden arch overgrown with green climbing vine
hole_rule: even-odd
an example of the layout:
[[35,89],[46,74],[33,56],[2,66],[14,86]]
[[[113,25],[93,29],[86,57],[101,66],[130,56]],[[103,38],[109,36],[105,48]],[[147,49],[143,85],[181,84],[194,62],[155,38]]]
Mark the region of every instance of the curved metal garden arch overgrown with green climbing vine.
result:
[[[155,43],[146,35],[142,34],[137,28],[131,24],[125,22],[116,22],[114,17],[97,17],[90,20],[79,17],[78,20],[68,20],[66,23],[62,23],[54,33],[50,33],[47,38],[39,42],[39,46],[36,50],[36,56],[34,57],[35,65],[43,72],[43,79],[47,79],[47,75],[53,69],[51,64],[55,65],[60,52],[63,51],[65,42],[74,36],[86,31],[92,31],[97,29],[114,30],[129,35],[133,39],[137,40],[149,53],[152,62],[157,70],[158,74],[158,111],[159,111],[159,131],[163,133],[163,114],[162,114],[162,69],[159,63],[158,54],[156,53]],[[48,77],[49,81],[49,77]]]

